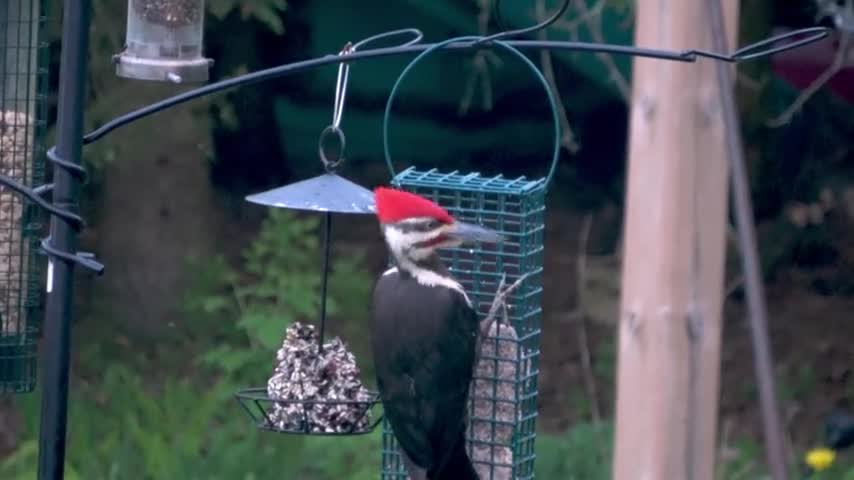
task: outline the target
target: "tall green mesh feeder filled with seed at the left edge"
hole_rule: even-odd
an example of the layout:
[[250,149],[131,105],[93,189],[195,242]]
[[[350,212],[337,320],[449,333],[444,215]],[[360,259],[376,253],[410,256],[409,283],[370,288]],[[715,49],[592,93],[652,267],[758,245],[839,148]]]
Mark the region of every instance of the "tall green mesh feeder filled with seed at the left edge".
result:
[[[0,174],[27,187],[44,177],[46,2],[0,2]],[[38,211],[0,186],[0,394],[36,384],[43,262]]]

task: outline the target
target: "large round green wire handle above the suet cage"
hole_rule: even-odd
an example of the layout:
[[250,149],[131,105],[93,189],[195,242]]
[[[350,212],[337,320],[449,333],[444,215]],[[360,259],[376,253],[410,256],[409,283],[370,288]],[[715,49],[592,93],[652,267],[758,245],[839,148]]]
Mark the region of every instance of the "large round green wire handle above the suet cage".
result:
[[[403,69],[400,76],[394,82],[394,86],[391,88],[391,93],[389,93],[388,100],[386,102],[385,114],[383,116],[383,153],[385,154],[386,165],[388,166],[389,172],[391,173],[392,178],[395,177],[396,172],[394,171],[394,165],[391,161],[391,153],[389,149],[389,141],[388,141],[388,128],[389,128],[389,120],[391,118],[391,106],[394,102],[394,97],[397,94],[398,89],[400,88],[401,83],[403,83],[403,79],[406,75],[412,70],[412,68],[418,64],[424,57],[433,53],[434,51],[446,47],[452,43],[460,43],[460,42],[477,42],[482,40],[484,37],[481,36],[466,36],[466,37],[457,37],[450,38],[443,42],[436,43],[432,45],[430,48],[421,52],[417,57],[415,57],[406,68]],[[522,60],[522,62],[528,66],[534,76],[539,80],[540,84],[543,86],[543,89],[546,91],[546,97],[549,101],[549,107],[552,111],[552,121],[554,125],[554,144],[552,148],[552,161],[551,167],[549,168],[549,172],[545,177],[545,184],[548,186],[551,183],[552,177],[554,177],[555,170],[557,170],[558,159],[560,158],[560,137],[561,137],[561,126],[560,126],[560,116],[558,113],[557,101],[555,100],[554,94],[552,93],[552,89],[549,86],[549,82],[546,80],[546,77],[543,76],[540,69],[534,65],[528,57],[526,57],[522,52],[514,48],[512,45],[505,43],[501,40],[494,40],[491,42],[494,46],[500,47],[507,52],[513,54],[518,59]]]

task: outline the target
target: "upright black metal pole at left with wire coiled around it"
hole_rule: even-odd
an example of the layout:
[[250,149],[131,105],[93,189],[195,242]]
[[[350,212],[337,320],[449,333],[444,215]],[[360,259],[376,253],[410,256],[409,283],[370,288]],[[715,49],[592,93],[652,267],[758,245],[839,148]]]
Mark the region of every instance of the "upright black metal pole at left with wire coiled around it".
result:
[[[86,58],[89,49],[90,0],[65,0],[62,22],[62,54],[59,69],[56,156],[80,165],[83,145],[83,108]],[[54,163],[53,203],[71,212],[79,210],[78,185],[73,171]],[[51,246],[75,252],[77,234],[71,224],[53,217]],[[39,434],[39,480],[61,480],[65,465],[68,424],[68,377],[71,353],[71,320],[74,264],[52,258],[48,274],[47,306],[42,343],[42,406]]]

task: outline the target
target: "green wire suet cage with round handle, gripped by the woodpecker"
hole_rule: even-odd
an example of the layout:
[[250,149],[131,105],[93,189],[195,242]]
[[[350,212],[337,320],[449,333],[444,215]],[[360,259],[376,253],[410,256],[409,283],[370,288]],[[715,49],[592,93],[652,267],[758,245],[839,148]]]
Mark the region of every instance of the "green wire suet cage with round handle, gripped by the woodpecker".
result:
[[[505,242],[478,248],[449,248],[440,256],[472,299],[481,320],[487,315],[502,276],[512,283],[529,274],[508,300],[509,325],[493,325],[484,338],[469,394],[467,449],[482,480],[534,478],[537,377],[542,317],[545,197],[560,152],[560,122],[554,96],[537,67],[513,47],[495,45],[527,65],[543,85],[552,109],[555,142],[551,169],[545,177],[504,178],[477,172],[442,172],[414,167],[395,173],[388,146],[392,101],[402,79],[426,55],[455,38],[425,50],[404,69],[386,105],[383,122],[385,157],[391,184],[429,198],[455,218],[495,229]],[[382,480],[407,474],[391,427],[383,422]]]

